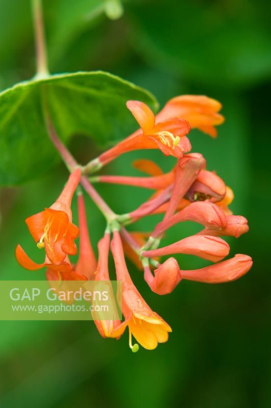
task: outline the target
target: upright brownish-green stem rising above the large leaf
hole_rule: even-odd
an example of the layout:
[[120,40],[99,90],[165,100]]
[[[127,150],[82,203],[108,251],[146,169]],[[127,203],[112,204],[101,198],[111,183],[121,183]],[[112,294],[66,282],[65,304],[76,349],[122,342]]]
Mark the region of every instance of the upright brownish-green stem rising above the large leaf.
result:
[[36,43],[36,77],[46,78],[49,75],[47,66],[47,52],[44,35],[42,0],[32,0],[32,14]]

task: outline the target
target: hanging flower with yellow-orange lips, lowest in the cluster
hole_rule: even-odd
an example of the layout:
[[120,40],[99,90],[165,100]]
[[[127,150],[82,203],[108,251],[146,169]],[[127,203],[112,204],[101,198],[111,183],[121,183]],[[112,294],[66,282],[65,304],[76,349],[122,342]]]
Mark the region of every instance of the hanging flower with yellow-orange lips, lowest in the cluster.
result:
[[132,351],[138,350],[138,345],[132,345],[132,335],[137,342],[147,350],[153,350],[158,343],[164,343],[168,340],[170,326],[144,301],[132,279],[129,275],[124,252],[122,249],[121,239],[118,232],[114,232],[111,243],[117,279],[122,281],[122,313],[125,321],[114,329],[111,337],[119,337],[129,328],[129,345]]

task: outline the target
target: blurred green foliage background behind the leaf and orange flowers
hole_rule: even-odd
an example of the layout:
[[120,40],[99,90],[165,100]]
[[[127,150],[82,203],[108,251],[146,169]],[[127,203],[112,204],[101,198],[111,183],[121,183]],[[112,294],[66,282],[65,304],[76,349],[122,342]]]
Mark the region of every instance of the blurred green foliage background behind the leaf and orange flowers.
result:
[[[102,3],[44,1],[51,71],[107,70],[149,89],[161,106],[183,93],[221,101],[226,122],[218,128],[218,138],[193,131],[191,141],[193,151],[204,154],[208,169],[216,170],[234,190],[231,209],[249,219],[250,232],[229,242],[231,256],[250,254],[254,266],[232,284],[182,282],[171,295],[159,297],[129,264],[142,295],[173,328],[169,341],[154,351],[141,347],[133,354],[127,334],[119,341],[104,340],[91,322],[1,322],[0,406],[267,408],[271,406],[269,2],[131,0],[116,21],[106,18]],[[33,76],[33,49],[29,1],[0,0],[1,89]],[[70,148],[82,163],[98,154],[91,140],[80,135]],[[139,157],[157,160],[164,170],[174,163],[159,151],[140,151],[119,158],[105,172],[137,174],[130,163]],[[66,176],[59,164],[42,179],[1,191],[1,279],[44,278],[44,271],[18,266],[14,249],[20,243],[39,260],[24,218],[50,206]],[[97,188],[117,212],[136,208],[151,194],[113,185]],[[87,212],[95,246],[104,220],[90,200]],[[150,217],[133,228],[150,231],[158,219]],[[164,242],[194,230],[189,224],[172,228]],[[205,265],[193,257],[179,261],[183,269]]]

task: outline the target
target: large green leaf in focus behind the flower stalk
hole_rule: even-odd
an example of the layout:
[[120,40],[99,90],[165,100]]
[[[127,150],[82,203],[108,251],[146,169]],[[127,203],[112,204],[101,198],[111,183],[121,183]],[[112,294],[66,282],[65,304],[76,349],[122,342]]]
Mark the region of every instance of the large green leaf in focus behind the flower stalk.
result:
[[[91,137],[100,147],[128,136],[135,122],[129,99],[157,110],[147,91],[102,71],[53,75],[15,85],[0,93],[0,185],[15,185],[43,174],[57,154],[47,137],[41,93],[62,140]],[[91,152],[89,152],[91,158]]]

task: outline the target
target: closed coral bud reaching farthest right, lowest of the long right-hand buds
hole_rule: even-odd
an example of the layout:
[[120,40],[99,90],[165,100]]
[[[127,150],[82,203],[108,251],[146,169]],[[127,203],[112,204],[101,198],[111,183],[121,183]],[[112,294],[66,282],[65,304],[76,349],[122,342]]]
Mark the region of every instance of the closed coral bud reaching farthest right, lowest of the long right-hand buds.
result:
[[188,279],[188,281],[221,284],[236,281],[251,269],[252,264],[251,257],[238,253],[234,258],[219,264],[202,269],[181,271],[181,274],[183,279]]

